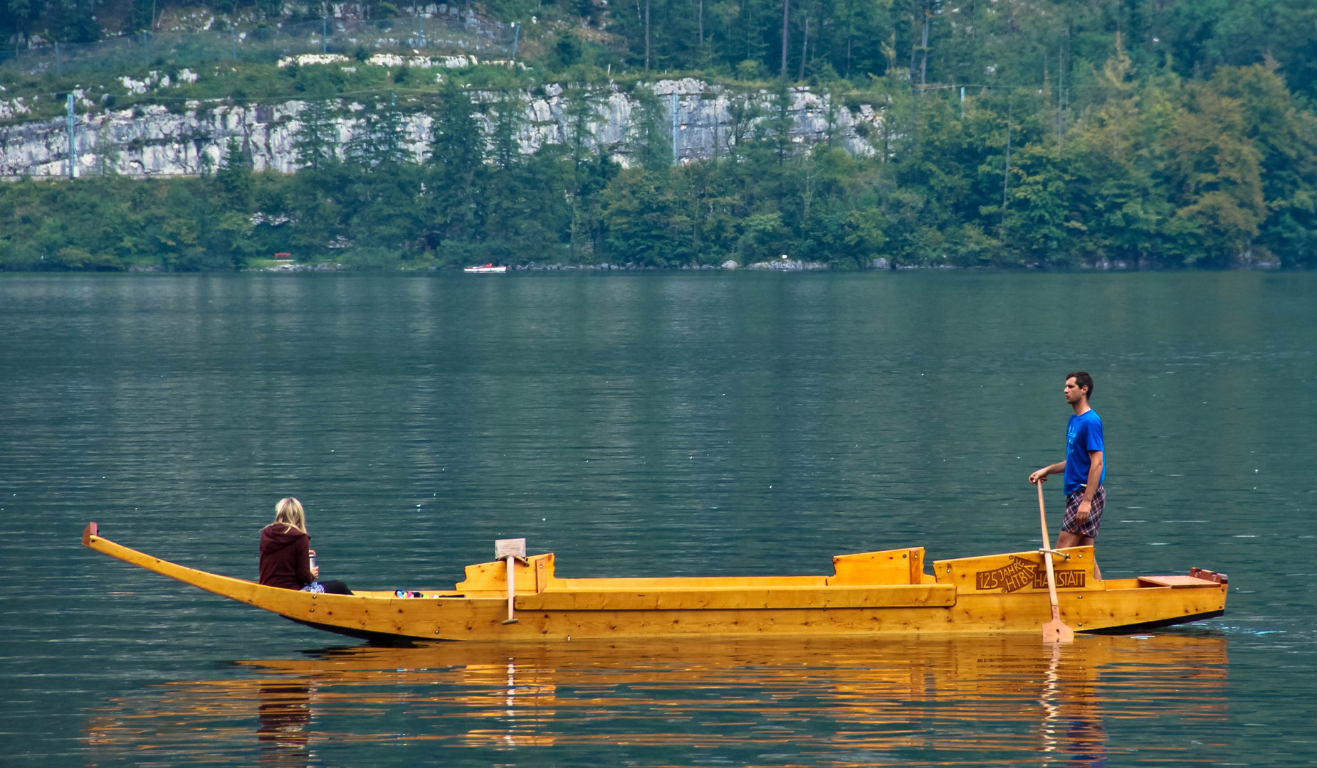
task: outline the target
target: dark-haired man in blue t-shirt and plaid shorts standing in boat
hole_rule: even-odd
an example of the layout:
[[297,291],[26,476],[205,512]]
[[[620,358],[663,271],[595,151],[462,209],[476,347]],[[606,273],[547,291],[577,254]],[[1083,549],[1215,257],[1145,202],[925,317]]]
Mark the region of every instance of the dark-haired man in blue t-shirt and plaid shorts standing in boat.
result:
[[[1088,406],[1093,396],[1093,377],[1084,371],[1065,375],[1065,402],[1075,409],[1075,416],[1065,426],[1065,460],[1038,469],[1029,476],[1033,484],[1046,483],[1048,475],[1065,473],[1065,517],[1062,518],[1062,533],[1056,537],[1056,548],[1085,547],[1097,539],[1097,526],[1102,521],[1102,506],[1106,504],[1106,464],[1102,462],[1102,420]],[[1093,577],[1101,579],[1097,563],[1093,563]]]

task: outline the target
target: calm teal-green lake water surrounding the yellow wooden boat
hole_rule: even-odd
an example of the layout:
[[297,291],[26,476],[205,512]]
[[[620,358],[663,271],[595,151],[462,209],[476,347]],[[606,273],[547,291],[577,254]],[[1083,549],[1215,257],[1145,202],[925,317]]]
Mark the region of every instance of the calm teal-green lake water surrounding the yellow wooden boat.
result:
[[[79,546],[444,587],[830,572],[1038,544],[1096,379],[1109,577],[1151,636],[374,648]],[[1317,275],[0,275],[5,765],[1317,763]],[[1059,483],[1051,484],[1052,530]]]

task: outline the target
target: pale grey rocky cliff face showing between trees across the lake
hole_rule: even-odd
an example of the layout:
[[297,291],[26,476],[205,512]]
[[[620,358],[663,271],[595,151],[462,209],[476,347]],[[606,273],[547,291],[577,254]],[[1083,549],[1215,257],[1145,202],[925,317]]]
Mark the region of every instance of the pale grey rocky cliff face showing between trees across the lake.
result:
[[[756,124],[772,112],[768,92],[731,93],[694,80],[660,80],[652,85],[664,105],[670,125],[677,162],[690,162],[724,153],[749,135]],[[477,100],[494,100],[477,93]],[[525,93],[525,120],[519,135],[523,153],[541,145],[566,141],[569,126],[562,88],[549,85]],[[627,141],[636,100],[616,88],[591,93],[595,118],[590,122],[590,143],[606,147],[624,164],[631,155]],[[345,104],[352,112],[361,105]],[[184,108],[144,107],[79,116],[74,133],[79,175],[121,174],[128,176],[179,176],[199,174],[219,166],[230,139],[252,154],[257,170],[292,172],[299,167],[294,146],[298,116],[304,103],[271,105],[232,105],[188,101]],[[747,121],[744,116],[759,110]],[[881,114],[869,105],[848,108],[830,103],[826,95],[806,88],[792,91],[792,141],[810,146],[831,138],[848,153],[869,155],[873,146],[865,138],[881,124]],[[487,120],[483,118],[482,120]],[[428,153],[432,117],[411,114],[406,122],[408,146],[417,159]],[[336,121],[340,147],[353,137],[357,121]],[[486,122],[486,129],[491,126]],[[486,130],[489,133],[489,130]],[[738,135],[740,134],[740,135]],[[68,132],[65,120],[0,128],[0,176],[67,176]]]

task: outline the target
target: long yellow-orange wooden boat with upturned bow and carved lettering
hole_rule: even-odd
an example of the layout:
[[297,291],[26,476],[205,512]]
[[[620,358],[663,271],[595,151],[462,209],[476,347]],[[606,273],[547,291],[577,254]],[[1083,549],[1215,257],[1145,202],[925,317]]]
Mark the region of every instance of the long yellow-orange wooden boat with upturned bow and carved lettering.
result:
[[[503,542],[500,542],[503,543]],[[1036,633],[1051,615],[1038,551],[935,560],[923,547],[832,558],[828,576],[562,579],[553,554],[466,567],[453,589],[315,594],[169,563],[83,531],[83,544],[126,563],[277,613],[374,642],[626,636]],[[524,547],[524,544],[523,544]],[[523,548],[524,552],[524,548]],[[1225,613],[1227,579],[1094,579],[1093,547],[1060,550],[1063,621],[1080,633],[1133,633]],[[511,573],[511,579],[508,579]]]

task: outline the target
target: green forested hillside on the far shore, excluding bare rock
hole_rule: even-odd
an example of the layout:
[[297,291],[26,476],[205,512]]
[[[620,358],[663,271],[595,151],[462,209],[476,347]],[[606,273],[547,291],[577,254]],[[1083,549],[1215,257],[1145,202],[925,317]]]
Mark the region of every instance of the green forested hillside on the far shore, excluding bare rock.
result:
[[[99,3],[57,13],[54,4],[0,1],[12,41],[107,34],[86,24],[91,16],[116,20],[111,33],[159,24],[157,13],[171,18],[144,17],[141,0],[107,3],[104,13]],[[281,251],[362,268],[685,266],[781,254],[839,268],[877,258],[1317,262],[1313,3],[502,0],[474,11],[523,22],[527,70],[449,70],[427,85],[406,66],[369,84],[356,67],[329,64],[203,72],[194,87],[208,97],[306,99],[296,133],[304,168],[253,172],[234,145],[199,178],[5,183],[0,268],[237,268]],[[673,164],[664,104],[645,96],[664,74],[766,93],[769,107],[738,116],[744,130],[726,151]],[[0,97],[53,101],[94,80],[8,76]],[[572,96],[568,135],[514,151],[518,110],[506,105],[547,83]],[[585,139],[610,83],[647,105],[627,137],[627,167]],[[873,154],[792,142],[782,105],[802,87],[828,104],[878,108],[881,129],[867,135]],[[500,96],[475,99],[475,88]],[[417,109],[433,116],[420,158],[396,141],[399,114]],[[336,146],[317,129],[346,110],[369,141]]]

